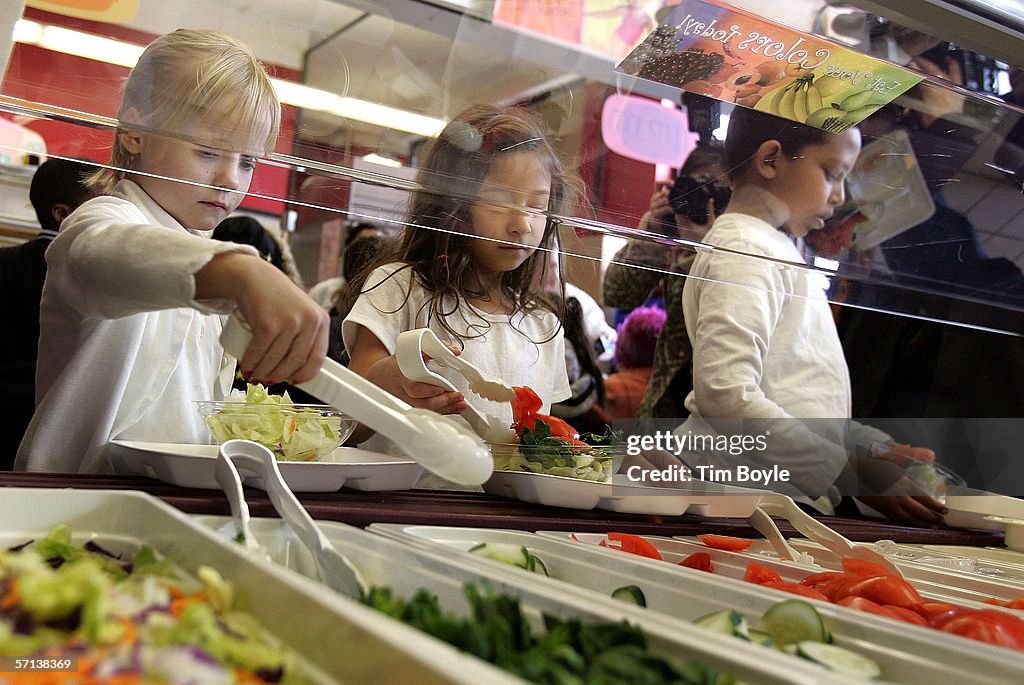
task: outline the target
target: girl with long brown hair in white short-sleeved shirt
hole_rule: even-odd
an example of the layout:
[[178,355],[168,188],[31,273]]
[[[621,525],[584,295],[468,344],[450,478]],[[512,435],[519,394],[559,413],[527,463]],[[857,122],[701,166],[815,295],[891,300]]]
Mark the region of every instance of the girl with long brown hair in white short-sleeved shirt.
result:
[[398,335],[429,327],[484,375],[534,388],[547,414],[569,395],[558,317],[532,286],[554,243],[545,212],[566,201],[557,155],[525,112],[481,104],[445,126],[418,180],[401,243],[346,290],[349,368],[415,406],[458,414],[469,400],[511,425],[511,405],[461,374],[439,370],[456,392],[402,376]]

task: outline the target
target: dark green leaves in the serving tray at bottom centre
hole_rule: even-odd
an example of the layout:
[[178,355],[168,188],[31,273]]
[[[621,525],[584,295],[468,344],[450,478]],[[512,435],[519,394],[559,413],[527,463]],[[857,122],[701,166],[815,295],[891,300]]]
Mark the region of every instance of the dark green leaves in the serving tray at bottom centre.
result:
[[426,590],[410,600],[389,588],[373,588],[361,601],[393,618],[509,671],[525,680],[551,685],[730,685],[731,674],[697,661],[656,654],[640,629],[627,622],[583,623],[544,614],[536,634],[519,600],[482,590],[464,589],[472,614],[462,617],[441,608]]

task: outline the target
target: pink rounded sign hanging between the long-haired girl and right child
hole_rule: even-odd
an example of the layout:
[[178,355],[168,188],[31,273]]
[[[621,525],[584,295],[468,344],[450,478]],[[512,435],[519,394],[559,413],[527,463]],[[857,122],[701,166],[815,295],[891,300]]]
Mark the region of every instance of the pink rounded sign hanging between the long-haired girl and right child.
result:
[[601,137],[608,149],[623,157],[677,168],[700,139],[689,130],[685,113],[618,93],[604,101]]

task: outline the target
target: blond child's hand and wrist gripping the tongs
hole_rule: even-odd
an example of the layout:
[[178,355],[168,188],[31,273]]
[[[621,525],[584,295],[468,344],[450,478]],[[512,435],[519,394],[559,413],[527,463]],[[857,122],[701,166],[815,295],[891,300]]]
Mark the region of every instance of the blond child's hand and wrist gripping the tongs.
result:
[[221,253],[196,274],[197,299],[233,300],[253,333],[242,374],[264,384],[312,378],[327,355],[330,315],[269,262]]

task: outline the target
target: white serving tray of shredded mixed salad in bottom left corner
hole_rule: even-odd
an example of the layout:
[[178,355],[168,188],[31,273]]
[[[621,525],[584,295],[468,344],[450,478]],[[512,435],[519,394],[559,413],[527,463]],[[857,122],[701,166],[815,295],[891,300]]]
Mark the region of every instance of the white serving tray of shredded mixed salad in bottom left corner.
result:
[[71,526],[76,543],[112,550],[148,544],[185,571],[216,568],[246,610],[302,655],[316,683],[521,683],[280,566],[246,555],[185,514],[128,490],[0,489],[0,544]]

